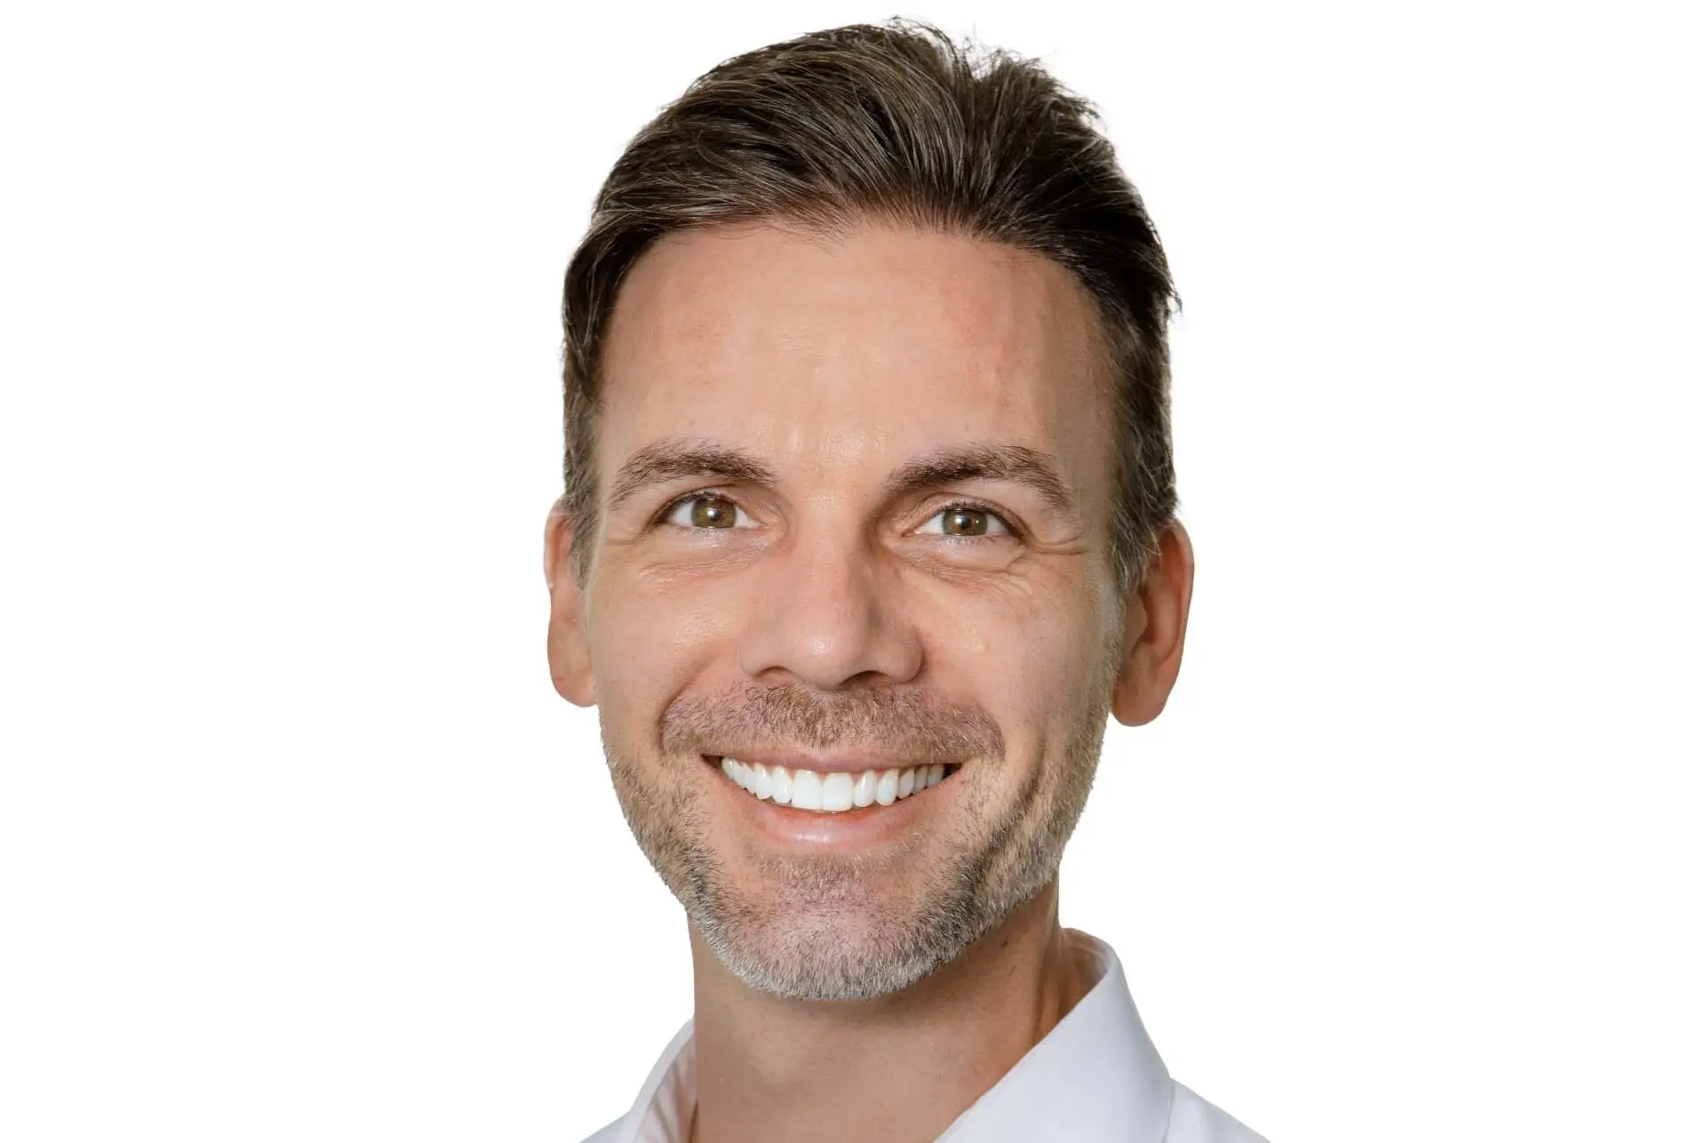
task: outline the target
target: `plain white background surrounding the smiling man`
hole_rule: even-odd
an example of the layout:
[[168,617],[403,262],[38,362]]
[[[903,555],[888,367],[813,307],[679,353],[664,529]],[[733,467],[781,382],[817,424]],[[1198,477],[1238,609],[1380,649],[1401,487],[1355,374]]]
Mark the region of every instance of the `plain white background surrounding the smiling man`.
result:
[[1699,1140],[1699,38],[1512,3],[9,5],[0,1136],[566,1140],[689,1013],[546,677],[561,271],[739,51],[1104,111],[1199,560],[1063,913],[1285,1140]]

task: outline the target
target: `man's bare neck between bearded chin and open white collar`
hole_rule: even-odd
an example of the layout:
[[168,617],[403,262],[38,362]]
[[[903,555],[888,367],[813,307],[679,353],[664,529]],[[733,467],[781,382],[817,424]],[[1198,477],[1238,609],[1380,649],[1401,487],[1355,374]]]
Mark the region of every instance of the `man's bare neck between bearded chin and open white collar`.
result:
[[1094,983],[1058,920],[1058,882],[892,996],[780,1000],[693,933],[693,1143],[926,1141],[1059,1024]]

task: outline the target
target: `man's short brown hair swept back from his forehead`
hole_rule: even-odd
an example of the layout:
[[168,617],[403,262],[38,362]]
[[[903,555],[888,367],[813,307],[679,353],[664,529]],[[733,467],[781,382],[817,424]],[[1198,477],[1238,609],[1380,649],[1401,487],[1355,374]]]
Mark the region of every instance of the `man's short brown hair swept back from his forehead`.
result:
[[616,292],[660,235],[771,220],[964,234],[1071,270],[1095,300],[1116,461],[1109,560],[1129,587],[1175,508],[1167,258],[1094,104],[1034,60],[974,60],[916,20],[810,32],[694,80],[628,143],[563,283],[563,508],[585,578],[597,525],[599,353]]

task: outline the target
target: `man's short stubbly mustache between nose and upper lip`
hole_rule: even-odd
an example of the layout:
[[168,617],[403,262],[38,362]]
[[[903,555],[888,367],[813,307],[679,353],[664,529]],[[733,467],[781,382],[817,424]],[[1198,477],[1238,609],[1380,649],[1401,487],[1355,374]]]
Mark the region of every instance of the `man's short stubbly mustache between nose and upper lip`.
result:
[[747,686],[677,698],[659,720],[669,754],[732,754],[742,747],[870,751],[914,763],[1000,757],[1001,728],[981,706],[920,691],[812,691],[798,684]]

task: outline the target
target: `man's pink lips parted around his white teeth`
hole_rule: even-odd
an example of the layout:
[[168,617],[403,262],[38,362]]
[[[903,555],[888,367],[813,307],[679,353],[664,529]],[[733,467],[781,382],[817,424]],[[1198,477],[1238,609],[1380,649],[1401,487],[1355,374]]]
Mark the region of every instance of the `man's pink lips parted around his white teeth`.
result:
[[[722,756],[713,759],[710,754],[701,754],[699,757],[706,764],[706,780],[718,788],[718,793],[711,797],[727,798],[730,814],[749,833],[790,848],[873,850],[902,843],[925,829],[928,815],[943,805],[942,797],[937,797],[937,793],[950,788],[950,780],[943,778],[928,790],[913,793],[892,805],[865,805],[838,814],[819,814],[759,800],[723,776],[722,769],[718,769]],[[766,766],[781,764],[793,769],[815,769],[821,773],[894,768],[892,763],[879,766],[880,759],[873,759],[872,756],[863,756],[862,761],[855,761],[853,756],[838,756],[827,761],[783,754],[728,754],[727,757],[739,757],[744,763],[763,763]],[[824,764],[815,766],[810,764],[812,761],[824,761]]]

